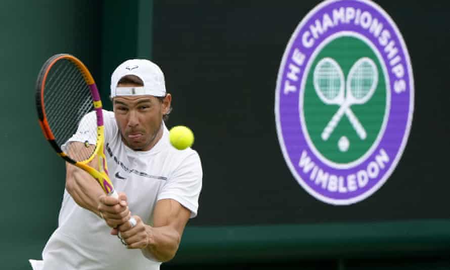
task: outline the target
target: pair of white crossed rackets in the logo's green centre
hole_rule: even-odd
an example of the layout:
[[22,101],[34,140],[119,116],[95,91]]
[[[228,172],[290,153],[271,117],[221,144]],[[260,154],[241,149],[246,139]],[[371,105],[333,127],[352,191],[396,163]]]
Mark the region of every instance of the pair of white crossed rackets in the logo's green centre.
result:
[[361,140],[367,138],[366,129],[351,110],[352,105],[368,102],[377,88],[378,69],[375,62],[363,57],[358,59],[344,78],[339,64],[326,57],[319,61],[313,73],[314,88],[319,98],[327,105],[339,105],[327,126],[322,131],[322,139],[327,141],[345,114]]

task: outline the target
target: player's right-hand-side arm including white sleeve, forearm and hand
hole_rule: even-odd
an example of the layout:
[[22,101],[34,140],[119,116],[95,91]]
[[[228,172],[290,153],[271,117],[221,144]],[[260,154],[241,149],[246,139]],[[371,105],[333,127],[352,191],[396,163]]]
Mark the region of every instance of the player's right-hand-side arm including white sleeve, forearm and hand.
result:
[[191,211],[192,216],[196,214],[202,174],[200,158],[196,152],[191,152],[159,192],[152,226],[145,224],[139,216],[133,216],[138,221],[134,228],[129,222],[118,227],[128,248],[140,248],[147,258],[158,261],[172,259]]

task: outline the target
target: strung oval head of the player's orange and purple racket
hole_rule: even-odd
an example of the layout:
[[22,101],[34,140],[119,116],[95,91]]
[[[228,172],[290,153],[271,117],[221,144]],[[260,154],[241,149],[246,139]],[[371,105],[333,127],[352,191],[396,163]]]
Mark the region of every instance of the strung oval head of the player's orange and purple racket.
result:
[[[100,110],[94,110],[94,99]],[[36,108],[39,124],[53,149],[70,163],[92,159],[101,142],[97,139],[97,127],[103,126],[101,102],[91,73],[84,64],[68,54],[49,58],[42,66],[36,82]],[[99,107],[99,106],[97,106]],[[94,112],[94,113],[91,113]],[[85,132],[96,138],[80,153],[64,151],[64,144],[76,133],[78,124],[85,117],[89,126]],[[87,119],[88,118],[88,119]],[[93,121],[95,120],[95,121]],[[98,123],[97,123],[98,122]],[[94,145],[94,147],[91,147]]]

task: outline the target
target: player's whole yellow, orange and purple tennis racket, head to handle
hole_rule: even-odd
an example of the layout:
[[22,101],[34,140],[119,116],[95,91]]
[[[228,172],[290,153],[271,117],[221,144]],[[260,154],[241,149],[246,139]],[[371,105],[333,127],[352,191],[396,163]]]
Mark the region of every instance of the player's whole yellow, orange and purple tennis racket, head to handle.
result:
[[36,107],[44,137],[58,155],[118,198],[104,153],[102,102],[86,66],[68,54],[49,58],[37,77]]

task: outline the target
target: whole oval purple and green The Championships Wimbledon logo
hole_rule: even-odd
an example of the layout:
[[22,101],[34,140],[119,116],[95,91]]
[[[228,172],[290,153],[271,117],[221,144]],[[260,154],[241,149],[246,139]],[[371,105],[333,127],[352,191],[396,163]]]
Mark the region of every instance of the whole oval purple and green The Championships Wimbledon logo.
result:
[[413,117],[413,71],[395,23],[367,0],[318,5],[289,40],[275,100],[298,183],[335,205],[369,197],[398,163]]

